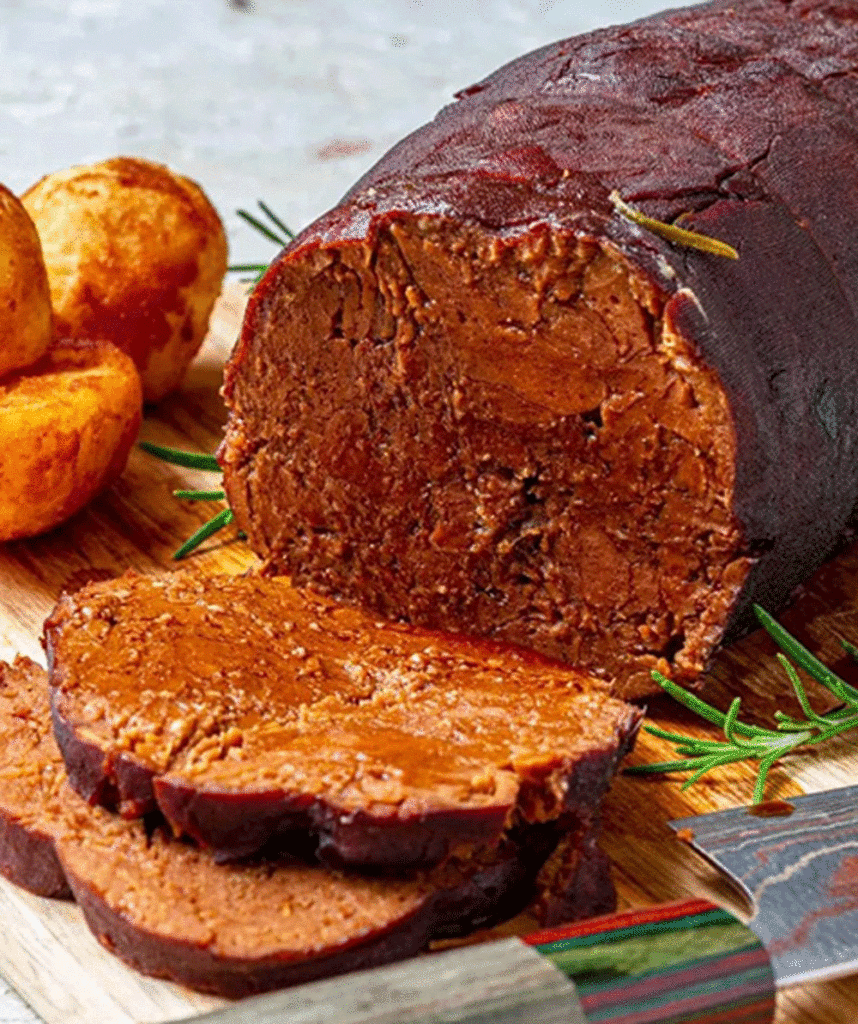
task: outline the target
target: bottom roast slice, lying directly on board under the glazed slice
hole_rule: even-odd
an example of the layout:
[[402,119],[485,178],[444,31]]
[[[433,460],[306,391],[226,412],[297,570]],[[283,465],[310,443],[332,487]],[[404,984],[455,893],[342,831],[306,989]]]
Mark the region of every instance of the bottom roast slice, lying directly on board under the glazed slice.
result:
[[[586,829],[535,825],[409,878],[298,861],[222,864],[66,784],[47,675],[0,664],[0,867],[39,895],[69,884],[99,941],[146,974],[224,996],[373,967],[510,916],[535,895],[547,924],[613,908]],[[68,884],[67,884],[68,878]]]

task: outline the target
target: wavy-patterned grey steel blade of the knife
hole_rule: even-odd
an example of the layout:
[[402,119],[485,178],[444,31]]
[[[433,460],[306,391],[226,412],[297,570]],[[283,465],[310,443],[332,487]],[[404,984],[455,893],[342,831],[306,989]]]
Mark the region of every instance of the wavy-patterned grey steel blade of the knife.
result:
[[774,809],[670,824],[748,899],[778,986],[858,972],[858,785]]

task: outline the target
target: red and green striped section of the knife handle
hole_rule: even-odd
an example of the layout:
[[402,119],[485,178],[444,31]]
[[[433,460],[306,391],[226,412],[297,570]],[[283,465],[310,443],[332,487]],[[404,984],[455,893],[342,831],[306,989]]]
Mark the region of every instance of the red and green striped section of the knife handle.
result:
[[524,941],[574,983],[589,1024],[774,1018],[768,953],[746,925],[706,900],[595,918]]

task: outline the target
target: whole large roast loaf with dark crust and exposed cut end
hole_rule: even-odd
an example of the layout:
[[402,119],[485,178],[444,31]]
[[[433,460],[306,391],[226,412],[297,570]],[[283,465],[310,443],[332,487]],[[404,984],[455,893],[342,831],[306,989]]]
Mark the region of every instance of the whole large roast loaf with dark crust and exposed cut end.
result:
[[717,0],[460,93],[251,297],[219,458],[267,566],[694,679],[858,498],[856,83],[854,3]]

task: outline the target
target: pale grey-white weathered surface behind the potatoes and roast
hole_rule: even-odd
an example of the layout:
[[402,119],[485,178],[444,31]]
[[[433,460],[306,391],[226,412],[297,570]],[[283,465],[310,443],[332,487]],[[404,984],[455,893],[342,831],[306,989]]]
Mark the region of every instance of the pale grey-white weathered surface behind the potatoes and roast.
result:
[[[453,93],[520,53],[670,0],[0,0],[0,181],[142,156],[195,178],[233,262],[302,227]],[[2,937],[0,936],[0,941]],[[0,979],[0,1024],[32,1012]],[[108,1024],[108,1022],[105,1022]]]

